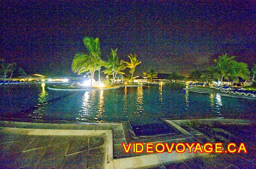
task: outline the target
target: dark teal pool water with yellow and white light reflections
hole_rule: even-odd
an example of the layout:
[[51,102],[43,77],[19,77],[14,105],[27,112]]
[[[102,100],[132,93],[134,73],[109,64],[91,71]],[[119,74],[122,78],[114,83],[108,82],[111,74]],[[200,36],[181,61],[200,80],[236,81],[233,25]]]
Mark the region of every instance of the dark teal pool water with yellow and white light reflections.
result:
[[92,91],[49,90],[45,83],[12,85],[0,86],[0,96],[1,118],[79,122],[129,120],[138,134],[143,133],[138,126],[150,132],[150,128],[158,124],[160,131],[161,125],[166,126],[160,118],[254,119],[256,112],[256,100],[171,90],[165,84]]

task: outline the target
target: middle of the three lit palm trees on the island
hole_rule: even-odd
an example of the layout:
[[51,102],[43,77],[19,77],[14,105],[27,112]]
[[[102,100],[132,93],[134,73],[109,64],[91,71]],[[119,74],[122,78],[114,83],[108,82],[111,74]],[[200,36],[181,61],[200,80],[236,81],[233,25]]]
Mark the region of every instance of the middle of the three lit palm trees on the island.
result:
[[118,60],[117,56],[117,49],[113,50],[111,49],[111,55],[108,56],[108,62],[105,64],[106,70],[103,72],[108,75],[113,76],[112,83],[115,83],[116,75],[121,74],[124,75],[125,73],[122,72],[124,69],[126,69],[126,66],[124,65],[124,61]]

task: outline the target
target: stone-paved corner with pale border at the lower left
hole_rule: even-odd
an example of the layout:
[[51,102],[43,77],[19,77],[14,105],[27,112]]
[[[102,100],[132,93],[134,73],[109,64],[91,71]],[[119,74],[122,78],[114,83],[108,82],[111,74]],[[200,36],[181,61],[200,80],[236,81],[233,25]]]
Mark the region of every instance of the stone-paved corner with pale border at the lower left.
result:
[[[105,168],[108,153],[112,153],[112,147],[108,147],[108,140],[112,142],[111,130],[58,130],[46,127],[55,125],[18,122],[0,124],[0,168]],[[81,127],[68,125],[73,129]],[[46,129],[38,129],[40,126]]]

